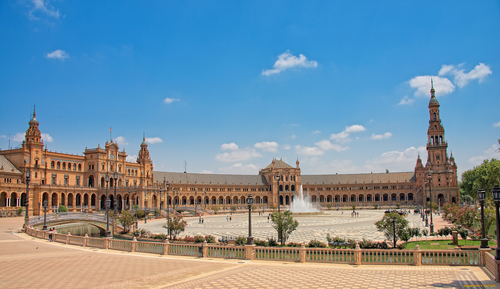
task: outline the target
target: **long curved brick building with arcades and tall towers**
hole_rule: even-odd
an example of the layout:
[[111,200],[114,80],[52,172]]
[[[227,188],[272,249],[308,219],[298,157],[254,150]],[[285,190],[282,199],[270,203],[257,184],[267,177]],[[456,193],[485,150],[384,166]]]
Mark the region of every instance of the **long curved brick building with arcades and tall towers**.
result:
[[[144,138],[135,162],[126,161],[126,152],[119,151],[112,139],[106,141],[104,147],[85,147],[81,155],[47,150],[33,110],[22,144],[0,150],[0,211],[4,214],[24,205],[28,168],[30,215],[40,213],[43,199],[51,206],[66,205],[70,211],[103,208],[106,174],[110,175],[108,193],[112,203],[113,186],[117,186],[118,209],[129,208],[130,204],[165,207],[167,203],[196,204],[207,209],[215,205],[220,209],[241,207],[248,194],[255,197],[259,207],[278,202],[288,205],[300,186],[312,202],[323,206],[326,203],[333,206],[417,205],[424,201],[425,195],[426,200],[430,200],[429,188],[424,187],[425,178],[427,186],[431,186],[433,202],[458,202],[457,166],[452,154],[449,157],[447,154],[448,144],[434,88],[430,93],[425,165],[418,155],[412,171],[387,173],[301,174],[298,159],[294,167],[281,159],[273,159],[258,174],[251,175],[153,171]],[[114,172],[118,173],[117,179],[112,177]],[[276,173],[280,174],[279,184],[274,177]]]

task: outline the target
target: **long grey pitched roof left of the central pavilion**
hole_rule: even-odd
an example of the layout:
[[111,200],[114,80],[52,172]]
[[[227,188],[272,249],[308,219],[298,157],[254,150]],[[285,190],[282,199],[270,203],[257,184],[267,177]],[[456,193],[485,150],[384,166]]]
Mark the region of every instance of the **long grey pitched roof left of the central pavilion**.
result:
[[258,184],[267,185],[267,181],[263,175],[259,174],[213,174],[213,173],[192,173],[192,172],[168,172],[168,171],[153,171],[154,182],[163,182],[163,177],[170,183],[186,184]]

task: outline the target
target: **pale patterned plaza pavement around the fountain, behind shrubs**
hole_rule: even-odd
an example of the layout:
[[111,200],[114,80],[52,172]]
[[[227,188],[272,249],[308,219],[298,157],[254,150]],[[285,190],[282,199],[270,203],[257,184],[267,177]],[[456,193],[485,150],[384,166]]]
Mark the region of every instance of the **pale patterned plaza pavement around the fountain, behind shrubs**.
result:
[[[326,210],[324,215],[317,216],[295,216],[298,220],[298,227],[293,231],[288,238],[288,241],[293,242],[308,242],[310,239],[326,242],[326,233],[330,233],[332,237],[340,236],[354,238],[356,240],[362,237],[377,241],[385,239],[383,233],[376,230],[375,221],[382,218],[384,210],[357,210],[359,217],[351,217],[351,211],[344,210]],[[276,236],[276,230],[272,227],[272,223],[267,222],[267,214],[258,215],[258,212],[253,212],[251,215],[252,221],[252,236],[260,239],[266,239],[268,236]],[[215,238],[220,238],[222,235],[229,236],[247,236],[248,235],[248,213],[233,214],[232,220],[227,221],[228,214],[216,214],[203,216],[203,224],[198,224],[198,217],[184,217],[187,221],[187,226],[184,232],[180,235],[215,235]],[[420,214],[413,215],[410,213],[406,218],[409,225],[413,227],[425,227]],[[439,220],[440,221],[439,221]],[[148,220],[147,223],[139,222],[139,228],[144,228],[152,233],[166,233],[163,228],[165,219]],[[447,225],[440,216],[434,217],[434,229]],[[428,228],[427,228],[428,229]]]

